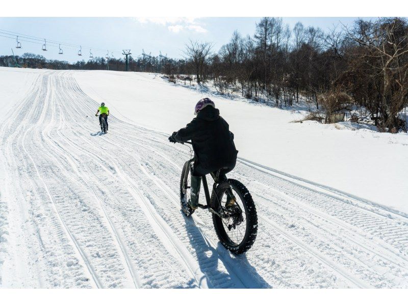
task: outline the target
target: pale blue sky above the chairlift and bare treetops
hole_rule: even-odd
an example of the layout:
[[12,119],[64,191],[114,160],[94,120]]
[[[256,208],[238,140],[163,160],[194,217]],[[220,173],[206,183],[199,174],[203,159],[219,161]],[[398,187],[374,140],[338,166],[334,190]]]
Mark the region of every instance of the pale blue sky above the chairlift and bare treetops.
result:
[[[297,21],[304,26],[320,27],[327,30],[338,24],[351,24],[357,17],[284,17],[284,23],[292,29]],[[113,56],[121,56],[123,48],[131,49],[134,56],[146,53],[170,57],[183,57],[184,45],[192,40],[211,41],[215,50],[228,42],[235,30],[242,35],[253,35],[260,17],[0,17],[0,30],[21,33],[24,35],[46,38],[74,45],[83,45],[82,54],[78,56],[79,47],[61,46],[64,54],[58,54],[58,46],[48,43],[47,52],[41,50],[41,44],[21,41],[22,48],[16,49],[15,40],[0,37],[0,55],[16,55],[25,52],[41,54],[49,59],[61,59],[69,62],[87,60],[89,47],[94,56],[105,56],[107,49],[113,50]],[[0,33],[0,35],[4,35]],[[15,38],[15,36],[14,36]],[[23,38],[20,38],[22,40]],[[36,42],[40,43],[39,40]],[[85,47],[87,46],[87,47]],[[103,50],[97,50],[100,48]]]

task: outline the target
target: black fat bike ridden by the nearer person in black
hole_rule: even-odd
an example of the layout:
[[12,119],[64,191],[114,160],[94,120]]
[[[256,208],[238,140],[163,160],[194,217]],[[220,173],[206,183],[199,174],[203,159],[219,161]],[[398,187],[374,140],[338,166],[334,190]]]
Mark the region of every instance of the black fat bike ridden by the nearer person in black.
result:
[[[195,212],[188,205],[191,199],[193,164],[194,158],[184,164],[180,181],[181,208],[188,217]],[[231,252],[241,254],[249,250],[257,238],[257,210],[248,189],[235,179],[219,181],[220,171],[221,169],[211,173],[214,180],[211,196],[207,178],[202,176],[207,205],[199,204],[198,208],[212,213],[215,232],[221,244]]]

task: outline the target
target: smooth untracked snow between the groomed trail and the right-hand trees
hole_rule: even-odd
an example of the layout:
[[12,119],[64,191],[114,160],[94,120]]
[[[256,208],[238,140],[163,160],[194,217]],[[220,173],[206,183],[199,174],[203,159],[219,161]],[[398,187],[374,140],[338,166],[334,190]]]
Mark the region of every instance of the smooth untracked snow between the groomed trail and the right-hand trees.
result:
[[[127,121],[171,134],[193,118],[204,89],[170,84],[157,74],[76,71],[86,94]],[[408,215],[408,135],[352,131],[305,121],[299,111],[210,97],[235,134],[239,157],[327,185]]]

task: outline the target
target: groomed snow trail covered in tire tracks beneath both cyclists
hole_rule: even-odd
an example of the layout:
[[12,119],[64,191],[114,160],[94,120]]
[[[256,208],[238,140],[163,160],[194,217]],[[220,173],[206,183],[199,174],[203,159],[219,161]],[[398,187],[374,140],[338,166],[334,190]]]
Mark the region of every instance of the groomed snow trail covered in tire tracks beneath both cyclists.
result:
[[404,213],[240,159],[259,228],[233,256],[210,213],[180,212],[187,146],[115,113],[102,135],[72,71],[20,94],[0,125],[0,287],[408,288]]

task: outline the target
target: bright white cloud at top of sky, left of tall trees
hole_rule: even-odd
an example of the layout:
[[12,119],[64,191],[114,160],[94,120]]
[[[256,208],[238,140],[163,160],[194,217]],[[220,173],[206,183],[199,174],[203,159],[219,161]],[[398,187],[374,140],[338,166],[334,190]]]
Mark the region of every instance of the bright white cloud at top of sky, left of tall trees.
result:
[[207,33],[197,20],[197,17],[136,17],[138,22],[154,23],[160,26],[166,26],[170,32],[180,33],[183,30],[194,31],[197,33]]

